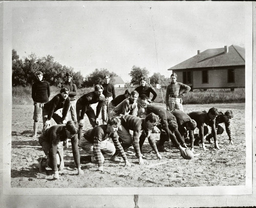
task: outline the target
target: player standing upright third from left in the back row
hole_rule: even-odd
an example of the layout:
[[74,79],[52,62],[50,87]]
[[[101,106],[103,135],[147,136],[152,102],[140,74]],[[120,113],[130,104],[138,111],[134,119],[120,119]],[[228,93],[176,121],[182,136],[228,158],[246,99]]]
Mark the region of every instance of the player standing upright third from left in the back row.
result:
[[104,76],[104,84],[103,87],[103,95],[105,96],[105,102],[102,105],[102,111],[101,111],[101,118],[103,124],[106,124],[106,121],[108,120],[108,105],[109,103],[116,98],[116,92],[114,85],[110,84],[110,75]]

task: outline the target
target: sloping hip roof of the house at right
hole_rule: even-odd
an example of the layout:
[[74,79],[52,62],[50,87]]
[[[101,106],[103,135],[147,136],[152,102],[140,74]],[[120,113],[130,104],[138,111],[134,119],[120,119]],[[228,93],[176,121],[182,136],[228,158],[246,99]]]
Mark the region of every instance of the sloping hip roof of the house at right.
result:
[[230,45],[227,53],[225,53],[224,47],[207,49],[168,70],[239,65],[245,65],[245,48],[237,45]]

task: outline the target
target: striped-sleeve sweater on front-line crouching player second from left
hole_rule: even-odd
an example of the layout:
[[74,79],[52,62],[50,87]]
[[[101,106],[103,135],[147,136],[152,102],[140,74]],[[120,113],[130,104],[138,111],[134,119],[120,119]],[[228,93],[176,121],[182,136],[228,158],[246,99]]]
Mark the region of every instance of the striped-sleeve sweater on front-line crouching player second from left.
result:
[[95,126],[83,135],[84,138],[93,144],[93,153],[99,167],[103,165],[100,151],[101,142],[108,138],[112,139],[117,151],[122,155],[123,160],[127,160],[126,154],[124,153],[123,148],[118,140],[119,137],[117,133],[109,133],[107,132],[107,128],[107,125]]

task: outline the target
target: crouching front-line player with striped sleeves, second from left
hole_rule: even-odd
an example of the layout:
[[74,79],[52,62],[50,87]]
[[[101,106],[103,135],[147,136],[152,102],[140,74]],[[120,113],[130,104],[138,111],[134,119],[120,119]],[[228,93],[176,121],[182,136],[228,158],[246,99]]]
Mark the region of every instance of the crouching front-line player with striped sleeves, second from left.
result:
[[[118,141],[117,129],[121,121],[119,118],[112,117],[108,120],[106,125],[98,125],[84,133],[83,137],[79,140],[79,147],[81,147],[89,155],[86,159],[90,162],[98,164],[98,170],[103,171],[104,157],[101,153],[113,155],[117,150],[125,161],[125,166],[130,167],[123,148]],[[108,141],[112,139],[113,143]]]

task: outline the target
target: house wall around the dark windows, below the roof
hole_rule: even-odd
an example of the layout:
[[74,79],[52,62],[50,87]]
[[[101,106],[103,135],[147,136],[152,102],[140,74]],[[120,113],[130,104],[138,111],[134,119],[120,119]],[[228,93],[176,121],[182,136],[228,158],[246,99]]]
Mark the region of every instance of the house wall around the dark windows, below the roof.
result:
[[[238,67],[234,69],[234,83],[228,83],[228,69],[208,69],[208,83],[202,83],[202,70],[193,70],[192,80],[193,89],[207,89],[207,88],[239,88],[245,87],[245,67]],[[183,71],[173,70],[178,75],[178,82],[183,82]],[[188,71],[188,70],[186,70]]]

